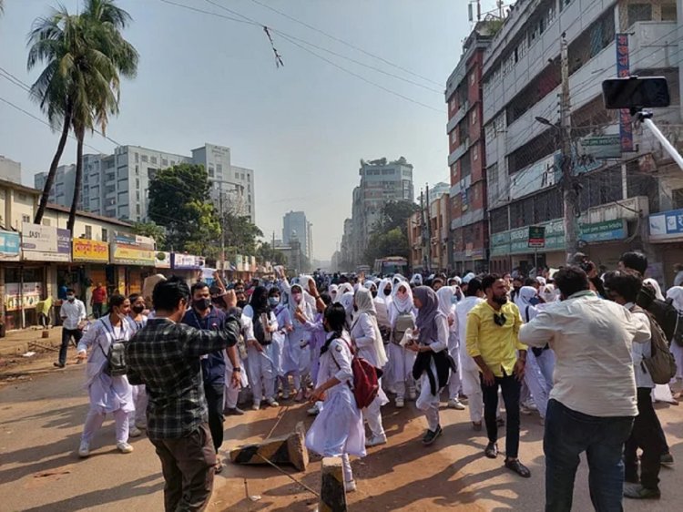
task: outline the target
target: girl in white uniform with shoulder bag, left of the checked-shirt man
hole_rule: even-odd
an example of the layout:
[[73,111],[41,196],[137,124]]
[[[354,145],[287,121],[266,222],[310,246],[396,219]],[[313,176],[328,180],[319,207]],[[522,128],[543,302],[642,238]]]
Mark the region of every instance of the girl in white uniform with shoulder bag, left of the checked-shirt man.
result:
[[[127,342],[133,335],[133,328],[125,320],[130,312],[130,301],[123,295],[111,295],[106,317],[93,323],[78,343],[76,357],[83,361],[87,357],[87,394],[90,409],[83,426],[78,456],[90,455],[90,444],[102,426],[105,415],[114,415],[117,424],[117,449],[123,454],[133,451],[128,445],[128,415],[135,411],[133,387],[126,375],[109,376],[107,353],[113,343]],[[87,349],[90,355],[87,356]]]

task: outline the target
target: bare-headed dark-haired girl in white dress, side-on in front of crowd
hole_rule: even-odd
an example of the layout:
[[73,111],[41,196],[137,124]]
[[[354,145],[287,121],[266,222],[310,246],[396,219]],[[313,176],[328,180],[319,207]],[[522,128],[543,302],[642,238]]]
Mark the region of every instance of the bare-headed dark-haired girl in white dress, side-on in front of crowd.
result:
[[311,402],[322,401],[323,406],[306,434],[306,447],[321,456],[342,457],[344,486],[352,492],[356,482],[349,456],[365,456],[365,428],[352,392],[352,345],[345,323],[343,306],[328,306],[324,325],[329,334],[321,348],[318,383],[311,395]]

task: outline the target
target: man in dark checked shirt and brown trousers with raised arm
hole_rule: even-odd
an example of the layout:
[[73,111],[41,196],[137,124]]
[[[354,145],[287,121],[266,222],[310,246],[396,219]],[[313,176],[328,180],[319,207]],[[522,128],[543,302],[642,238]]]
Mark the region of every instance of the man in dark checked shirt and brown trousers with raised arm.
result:
[[[180,323],[189,288],[179,278],[158,282],[152,302],[156,317],[127,344],[128,380],[147,386],[147,432],[166,480],[166,510],[203,510],[213,488],[216,451],[199,357],[237,343],[240,321],[230,314],[236,298],[229,292],[228,317],[218,331]],[[239,382],[239,374],[232,375]]]

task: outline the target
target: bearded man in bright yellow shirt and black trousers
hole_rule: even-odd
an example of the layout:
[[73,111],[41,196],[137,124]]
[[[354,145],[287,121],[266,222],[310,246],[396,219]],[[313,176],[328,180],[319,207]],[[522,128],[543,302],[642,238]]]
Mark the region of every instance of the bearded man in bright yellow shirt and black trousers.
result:
[[526,346],[519,342],[522,317],[517,306],[507,300],[507,283],[496,274],[484,276],[482,291],[486,301],[467,315],[467,353],[479,367],[484,394],[484,422],[488,445],[485,456],[498,456],[498,388],[505,401],[507,430],[505,467],[528,478],[529,469],[517,457],[519,451],[519,394],[525,373]]

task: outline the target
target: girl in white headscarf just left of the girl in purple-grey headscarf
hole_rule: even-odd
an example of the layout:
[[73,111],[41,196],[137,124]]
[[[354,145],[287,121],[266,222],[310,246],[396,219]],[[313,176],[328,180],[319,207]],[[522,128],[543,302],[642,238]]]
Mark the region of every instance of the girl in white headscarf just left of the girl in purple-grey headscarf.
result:
[[396,407],[402,408],[405,405],[406,388],[408,399],[414,400],[417,397],[413,380],[415,353],[399,344],[406,330],[415,327],[417,310],[413,305],[413,291],[408,282],[396,282],[392,293],[392,302],[389,306],[389,322],[392,324],[389,343],[391,367],[387,373],[391,375],[392,388],[396,391]]

